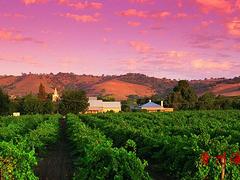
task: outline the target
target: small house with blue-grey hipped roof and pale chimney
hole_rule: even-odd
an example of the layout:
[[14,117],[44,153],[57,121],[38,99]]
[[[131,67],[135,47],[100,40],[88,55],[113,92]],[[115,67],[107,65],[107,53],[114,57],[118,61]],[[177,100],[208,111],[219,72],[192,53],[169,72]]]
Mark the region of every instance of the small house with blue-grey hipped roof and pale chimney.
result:
[[142,110],[147,110],[147,112],[173,112],[173,108],[163,107],[163,101],[161,101],[161,105],[159,105],[149,100],[148,103],[140,106],[140,108]]

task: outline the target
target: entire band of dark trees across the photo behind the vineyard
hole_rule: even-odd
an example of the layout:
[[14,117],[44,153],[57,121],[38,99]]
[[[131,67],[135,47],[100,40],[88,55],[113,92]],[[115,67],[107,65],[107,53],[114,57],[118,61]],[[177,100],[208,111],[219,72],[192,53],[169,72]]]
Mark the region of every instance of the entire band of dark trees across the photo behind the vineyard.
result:
[[[114,97],[111,95],[99,96],[98,99],[114,101]],[[138,111],[139,105],[147,103],[150,99],[158,104],[163,100],[165,107],[173,107],[175,110],[240,109],[239,96],[216,96],[211,92],[197,96],[188,81],[181,80],[164,98],[158,94],[151,97],[128,96],[127,100],[121,102],[122,111]],[[85,91],[77,89],[64,90],[60,101],[52,102],[52,94],[47,94],[42,84],[39,86],[37,95],[28,94],[16,99],[10,99],[9,95],[0,88],[0,115],[9,115],[13,112],[21,114],[67,114],[71,112],[78,114],[85,112],[88,105]]]

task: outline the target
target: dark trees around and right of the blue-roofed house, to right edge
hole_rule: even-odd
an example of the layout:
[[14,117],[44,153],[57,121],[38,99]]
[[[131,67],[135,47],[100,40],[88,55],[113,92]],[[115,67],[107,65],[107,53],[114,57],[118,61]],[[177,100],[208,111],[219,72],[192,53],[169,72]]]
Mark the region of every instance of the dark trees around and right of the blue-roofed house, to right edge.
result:
[[160,95],[128,96],[127,100],[122,101],[122,110],[136,111],[140,104],[145,104],[150,99],[157,104],[164,101],[165,107],[173,107],[175,110],[240,109],[240,97],[216,96],[211,92],[206,92],[198,97],[188,81],[181,80],[166,98]]

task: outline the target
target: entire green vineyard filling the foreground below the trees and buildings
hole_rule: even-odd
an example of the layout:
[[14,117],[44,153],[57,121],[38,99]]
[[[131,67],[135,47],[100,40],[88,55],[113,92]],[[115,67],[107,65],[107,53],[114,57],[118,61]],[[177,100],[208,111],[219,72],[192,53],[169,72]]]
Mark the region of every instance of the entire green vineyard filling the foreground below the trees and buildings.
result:
[[239,129],[239,111],[0,117],[0,179],[41,179],[67,141],[65,179],[237,180]]

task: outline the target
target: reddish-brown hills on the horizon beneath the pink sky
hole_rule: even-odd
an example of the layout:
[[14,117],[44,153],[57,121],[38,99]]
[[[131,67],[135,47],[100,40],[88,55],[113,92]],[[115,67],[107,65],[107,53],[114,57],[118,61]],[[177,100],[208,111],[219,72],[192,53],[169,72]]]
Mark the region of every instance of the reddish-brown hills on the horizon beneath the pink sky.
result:
[[[42,83],[48,93],[54,88],[62,91],[66,88],[83,89],[89,96],[112,94],[116,99],[126,99],[128,95],[166,96],[177,80],[148,77],[143,74],[128,73],[119,76],[76,75],[73,73],[58,74],[23,74],[21,76],[0,76],[0,86],[10,95],[23,96],[36,94]],[[240,76],[233,79],[192,80],[190,84],[201,95],[213,92],[216,95],[240,96]]]

